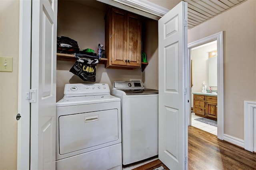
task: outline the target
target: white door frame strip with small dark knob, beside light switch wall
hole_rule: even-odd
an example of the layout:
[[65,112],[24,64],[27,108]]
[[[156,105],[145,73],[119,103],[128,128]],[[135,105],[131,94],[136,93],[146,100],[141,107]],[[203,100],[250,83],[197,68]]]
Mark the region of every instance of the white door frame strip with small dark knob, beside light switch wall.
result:
[[30,102],[32,1],[20,1],[17,169],[30,169]]

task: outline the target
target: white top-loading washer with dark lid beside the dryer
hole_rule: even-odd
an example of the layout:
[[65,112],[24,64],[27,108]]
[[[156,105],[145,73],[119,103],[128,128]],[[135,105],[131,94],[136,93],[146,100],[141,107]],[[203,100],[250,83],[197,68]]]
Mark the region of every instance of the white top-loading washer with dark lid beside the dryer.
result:
[[122,164],[158,155],[158,90],[142,82],[117,81],[112,95],[121,99]]

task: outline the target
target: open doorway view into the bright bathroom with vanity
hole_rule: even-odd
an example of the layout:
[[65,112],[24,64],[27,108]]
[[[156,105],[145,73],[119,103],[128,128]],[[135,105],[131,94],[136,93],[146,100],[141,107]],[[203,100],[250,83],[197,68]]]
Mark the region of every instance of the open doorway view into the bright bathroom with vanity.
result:
[[217,57],[216,40],[191,48],[191,126],[216,136]]

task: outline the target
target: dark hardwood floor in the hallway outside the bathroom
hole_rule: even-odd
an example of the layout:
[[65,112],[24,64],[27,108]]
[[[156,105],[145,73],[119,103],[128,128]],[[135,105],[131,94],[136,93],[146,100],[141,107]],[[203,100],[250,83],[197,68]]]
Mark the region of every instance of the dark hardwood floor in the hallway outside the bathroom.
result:
[[256,154],[188,127],[189,170],[255,170]]

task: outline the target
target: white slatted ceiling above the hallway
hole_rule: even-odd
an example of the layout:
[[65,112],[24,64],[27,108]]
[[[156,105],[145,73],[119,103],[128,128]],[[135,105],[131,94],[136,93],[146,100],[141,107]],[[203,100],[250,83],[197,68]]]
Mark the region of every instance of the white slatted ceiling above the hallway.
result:
[[192,28],[244,0],[184,0],[188,2],[188,28]]

